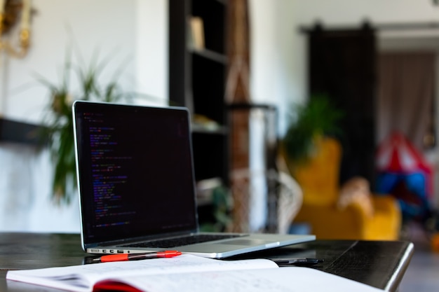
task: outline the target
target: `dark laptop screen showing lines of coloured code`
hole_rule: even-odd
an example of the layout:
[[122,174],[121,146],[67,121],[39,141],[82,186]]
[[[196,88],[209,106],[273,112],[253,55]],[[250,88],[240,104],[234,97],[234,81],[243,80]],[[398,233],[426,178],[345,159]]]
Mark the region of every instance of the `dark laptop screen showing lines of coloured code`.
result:
[[189,112],[76,102],[84,244],[196,230]]

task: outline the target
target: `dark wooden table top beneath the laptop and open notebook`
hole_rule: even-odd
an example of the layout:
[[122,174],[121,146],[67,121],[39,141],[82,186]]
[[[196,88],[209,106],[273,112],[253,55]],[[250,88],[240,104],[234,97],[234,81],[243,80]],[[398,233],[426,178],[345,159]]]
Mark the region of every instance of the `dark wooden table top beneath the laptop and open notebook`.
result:
[[[90,257],[78,234],[0,233],[0,291],[55,291],[52,288],[6,281],[8,270],[81,265]],[[313,268],[384,289],[397,291],[410,263],[413,244],[355,240],[316,240],[239,258],[308,257],[323,259]]]

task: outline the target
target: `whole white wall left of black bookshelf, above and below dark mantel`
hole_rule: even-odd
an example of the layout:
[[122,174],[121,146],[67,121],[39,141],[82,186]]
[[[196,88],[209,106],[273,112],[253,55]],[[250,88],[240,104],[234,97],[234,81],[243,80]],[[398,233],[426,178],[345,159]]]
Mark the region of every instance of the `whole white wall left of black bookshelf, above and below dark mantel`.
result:
[[[50,97],[36,74],[59,85],[68,47],[85,66],[96,52],[98,60],[108,58],[103,84],[123,64],[118,81],[124,90],[141,93],[143,104],[166,102],[166,0],[33,0],[32,6],[29,54],[18,60],[0,52],[0,116],[41,122]],[[17,35],[11,34],[10,41],[17,41]],[[76,79],[70,85],[74,96]],[[0,143],[0,230],[79,231],[77,198],[69,206],[55,206],[51,174],[47,152]]]

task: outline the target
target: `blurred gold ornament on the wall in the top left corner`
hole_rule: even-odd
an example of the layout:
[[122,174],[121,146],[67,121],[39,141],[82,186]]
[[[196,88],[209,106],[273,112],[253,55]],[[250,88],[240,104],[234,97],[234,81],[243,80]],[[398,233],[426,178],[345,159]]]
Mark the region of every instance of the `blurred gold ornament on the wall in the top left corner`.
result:
[[[30,45],[31,0],[0,0],[0,52],[5,51],[13,57],[25,57]],[[20,21],[18,45],[4,41],[4,36],[12,32]]]

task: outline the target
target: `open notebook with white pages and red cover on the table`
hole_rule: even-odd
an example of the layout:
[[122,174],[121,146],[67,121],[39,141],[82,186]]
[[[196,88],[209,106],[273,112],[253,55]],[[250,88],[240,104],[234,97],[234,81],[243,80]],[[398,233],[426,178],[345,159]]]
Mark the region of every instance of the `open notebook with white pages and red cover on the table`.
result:
[[214,260],[191,255],[13,270],[6,279],[11,288],[26,282],[78,292],[382,291],[310,267],[278,267],[265,259]]

